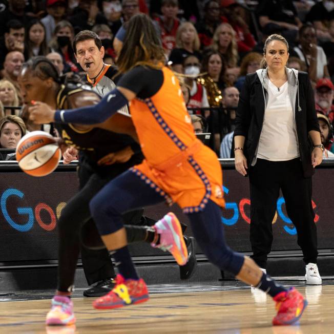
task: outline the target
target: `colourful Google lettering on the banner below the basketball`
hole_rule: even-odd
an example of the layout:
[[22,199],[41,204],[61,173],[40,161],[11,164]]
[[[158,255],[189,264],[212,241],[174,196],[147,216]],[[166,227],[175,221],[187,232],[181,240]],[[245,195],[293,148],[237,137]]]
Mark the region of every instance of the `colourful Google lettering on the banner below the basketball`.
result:
[[[15,189],[15,188],[8,188],[4,191],[4,193],[1,196],[0,205],[1,205],[1,210],[3,212],[3,215],[4,215],[5,219],[7,220],[7,222],[19,232],[29,231],[32,228],[32,226],[35,222],[35,218],[36,218],[36,221],[37,221],[38,225],[41,228],[45,229],[45,231],[52,231],[56,227],[56,217],[59,218],[62,208],[64,208],[65,205],[66,205],[65,202],[60,202],[57,205],[56,214],[54,213],[52,208],[46,203],[38,203],[35,206],[34,209],[32,207],[29,207],[29,206],[27,206],[27,207],[17,207],[17,213],[18,214],[28,216],[27,223],[17,224],[10,217],[10,215],[7,211],[7,203],[9,201],[10,197],[12,197],[12,196],[16,196],[20,199],[23,199],[24,198],[24,193]],[[44,222],[43,220],[41,220],[40,213],[42,211],[46,211],[49,214],[50,222]]]

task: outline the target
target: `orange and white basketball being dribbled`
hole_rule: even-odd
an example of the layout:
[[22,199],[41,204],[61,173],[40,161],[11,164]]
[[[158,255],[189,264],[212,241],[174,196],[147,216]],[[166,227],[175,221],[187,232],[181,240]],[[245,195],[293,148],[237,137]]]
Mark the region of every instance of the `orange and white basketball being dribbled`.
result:
[[61,150],[50,134],[33,131],[26,134],[16,147],[16,160],[20,168],[32,176],[45,176],[58,165]]

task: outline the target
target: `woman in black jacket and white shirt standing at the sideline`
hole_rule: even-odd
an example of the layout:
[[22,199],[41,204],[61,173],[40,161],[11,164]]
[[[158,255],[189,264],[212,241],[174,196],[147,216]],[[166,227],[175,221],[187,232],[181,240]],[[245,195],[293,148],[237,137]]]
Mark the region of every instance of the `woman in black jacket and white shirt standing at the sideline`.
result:
[[284,37],[270,35],[263,51],[264,68],[246,76],[234,133],[236,170],[249,175],[252,258],[266,268],[281,189],[303,251],[306,282],[321,284],[311,176],[323,145],[314,93],[306,73],[286,68]]

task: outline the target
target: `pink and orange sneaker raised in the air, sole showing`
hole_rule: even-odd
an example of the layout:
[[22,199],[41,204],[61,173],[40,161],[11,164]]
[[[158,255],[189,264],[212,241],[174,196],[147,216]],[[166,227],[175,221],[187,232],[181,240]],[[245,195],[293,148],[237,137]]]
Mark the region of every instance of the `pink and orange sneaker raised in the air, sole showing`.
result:
[[186,264],[188,251],[183,240],[182,228],[176,216],[170,212],[157,221],[153,228],[160,235],[159,244],[152,243],[152,247],[160,248],[162,251],[169,251],[175,258],[178,265]]

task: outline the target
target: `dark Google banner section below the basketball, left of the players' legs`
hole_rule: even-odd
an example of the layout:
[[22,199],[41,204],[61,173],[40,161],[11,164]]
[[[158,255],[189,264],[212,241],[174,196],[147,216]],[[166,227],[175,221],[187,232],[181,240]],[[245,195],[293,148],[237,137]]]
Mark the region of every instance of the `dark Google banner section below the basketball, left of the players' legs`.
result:
[[0,262],[57,259],[57,221],[76,194],[76,172],[1,173]]

